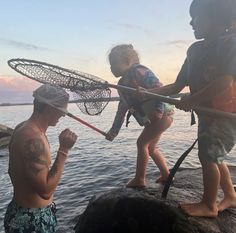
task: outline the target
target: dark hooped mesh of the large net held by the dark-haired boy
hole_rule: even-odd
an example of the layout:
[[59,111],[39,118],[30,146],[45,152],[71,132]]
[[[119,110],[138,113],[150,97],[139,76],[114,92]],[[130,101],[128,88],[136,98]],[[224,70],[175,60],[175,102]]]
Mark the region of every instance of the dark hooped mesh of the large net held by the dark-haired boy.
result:
[[94,75],[20,58],[9,60],[8,65],[30,79],[70,90],[74,102],[85,114],[99,115],[110,101],[111,90]]

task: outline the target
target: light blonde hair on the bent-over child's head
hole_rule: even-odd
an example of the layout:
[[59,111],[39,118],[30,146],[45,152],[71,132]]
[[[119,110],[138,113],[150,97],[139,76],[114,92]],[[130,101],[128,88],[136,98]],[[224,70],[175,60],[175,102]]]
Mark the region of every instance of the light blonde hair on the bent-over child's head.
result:
[[128,59],[134,63],[139,63],[139,56],[132,44],[120,44],[113,47],[108,55],[109,62],[112,58]]

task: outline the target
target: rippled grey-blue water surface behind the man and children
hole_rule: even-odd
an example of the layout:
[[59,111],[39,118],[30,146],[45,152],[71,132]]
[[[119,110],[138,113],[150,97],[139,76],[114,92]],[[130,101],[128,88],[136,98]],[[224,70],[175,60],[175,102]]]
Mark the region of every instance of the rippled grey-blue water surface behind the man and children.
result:
[[[116,113],[118,102],[111,102],[99,116],[88,116],[80,112],[76,104],[69,105],[69,111],[86,120],[97,128],[108,131]],[[18,123],[30,117],[32,105],[0,107],[0,124],[14,128]],[[70,128],[78,135],[77,142],[67,159],[65,170],[55,192],[57,204],[58,231],[74,232],[78,216],[85,210],[89,200],[96,194],[102,194],[112,188],[123,187],[133,178],[136,165],[136,139],[141,133],[135,120],[129,127],[122,127],[113,142],[103,135],[64,117],[56,127],[48,129],[47,136],[54,160],[58,149],[58,135]],[[176,110],[172,126],[163,134],[158,146],[172,167],[181,154],[196,139],[197,126],[190,126],[190,113]],[[229,154],[227,163],[236,165],[236,148]],[[183,162],[183,168],[199,167],[197,146]],[[4,232],[3,218],[7,204],[12,198],[12,186],[7,173],[8,151],[0,150],[0,232]],[[147,181],[157,186],[155,179],[158,169],[150,159],[147,168]]]

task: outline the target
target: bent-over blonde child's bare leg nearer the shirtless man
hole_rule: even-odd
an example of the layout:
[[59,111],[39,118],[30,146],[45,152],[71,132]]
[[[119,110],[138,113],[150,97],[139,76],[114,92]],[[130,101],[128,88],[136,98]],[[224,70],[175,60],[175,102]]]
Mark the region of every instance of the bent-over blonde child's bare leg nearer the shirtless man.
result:
[[148,152],[148,143],[150,141],[149,138],[149,130],[144,128],[143,132],[139,136],[137,140],[137,162],[136,162],[136,174],[135,177],[128,182],[126,187],[145,187],[145,175],[146,175],[146,168],[149,159],[149,152]]

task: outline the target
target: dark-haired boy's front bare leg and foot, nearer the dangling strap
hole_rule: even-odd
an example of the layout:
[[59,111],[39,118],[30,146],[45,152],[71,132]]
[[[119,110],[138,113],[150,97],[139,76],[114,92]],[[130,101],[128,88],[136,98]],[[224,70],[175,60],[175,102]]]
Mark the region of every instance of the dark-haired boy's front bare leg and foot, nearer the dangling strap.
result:
[[216,204],[217,191],[220,183],[220,172],[217,164],[200,159],[203,172],[204,193],[199,203],[181,204],[181,208],[191,216],[216,217],[218,208]]

